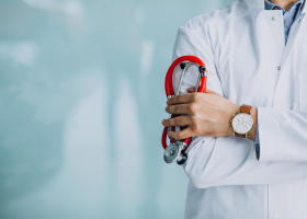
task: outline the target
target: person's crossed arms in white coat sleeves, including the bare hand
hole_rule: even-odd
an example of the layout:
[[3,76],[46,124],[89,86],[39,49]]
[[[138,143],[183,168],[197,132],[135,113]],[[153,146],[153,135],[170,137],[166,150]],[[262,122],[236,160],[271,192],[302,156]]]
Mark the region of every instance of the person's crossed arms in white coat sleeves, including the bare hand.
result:
[[[211,39],[206,26],[193,31],[179,30],[173,58],[194,55],[205,64],[208,73],[207,93],[187,93],[168,101],[168,113],[184,114],[163,120],[164,126],[187,125],[185,130],[169,132],[175,139],[198,136],[190,146],[187,162],[183,165],[191,182],[198,188],[218,185],[275,184],[307,178],[307,112],[272,107],[252,108],[258,119],[261,155],[258,161],[253,140],[232,136],[229,119],[239,105],[223,97]],[[187,72],[189,73],[189,72]],[[184,79],[181,93],[192,92],[195,81]],[[174,72],[177,84],[180,72]],[[175,89],[175,88],[174,88]],[[289,162],[291,161],[291,162]]]

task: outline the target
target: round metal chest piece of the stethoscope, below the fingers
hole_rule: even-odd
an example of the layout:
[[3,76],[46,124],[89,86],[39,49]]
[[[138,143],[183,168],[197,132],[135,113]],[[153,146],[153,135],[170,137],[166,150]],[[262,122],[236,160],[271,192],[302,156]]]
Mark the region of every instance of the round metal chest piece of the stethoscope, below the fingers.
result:
[[167,163],[177,161],[179,165],[182,165],[187,160],[187,154],[182,152],[181,146],[174,142],[167,147],[163,153],[163,159]]

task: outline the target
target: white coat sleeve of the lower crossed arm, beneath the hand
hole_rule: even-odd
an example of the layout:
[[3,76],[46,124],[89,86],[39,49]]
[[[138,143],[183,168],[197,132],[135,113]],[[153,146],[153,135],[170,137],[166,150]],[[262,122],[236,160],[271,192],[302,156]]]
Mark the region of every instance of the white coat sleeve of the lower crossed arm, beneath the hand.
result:
[[235,136],[198,137],[184,170],[198,188],[220,185],[277,184],[305,180],[305,162],[259,162],[254,143]]

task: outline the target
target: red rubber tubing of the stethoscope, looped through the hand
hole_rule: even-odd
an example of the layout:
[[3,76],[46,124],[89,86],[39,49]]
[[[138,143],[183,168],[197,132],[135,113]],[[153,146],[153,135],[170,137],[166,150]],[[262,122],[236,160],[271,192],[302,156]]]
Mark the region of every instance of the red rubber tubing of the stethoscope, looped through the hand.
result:
[[[174,95],[173,85],[172,85],[173,70],[178,65],[182,64],[183,61],[195,62],[195,64],[198,64],[200,66],[205,67],[204,62],[195,56],[182,56],[182,57],[179,57],[178,59],[175,59],[173,61],[173,64],[170,66],[168,72],[167,72],[167,77],[166,77],[164,87],[166,87],[167,96]],[[207,80],[207,77],[203,76],[201,81],[200,81],[197,92],[202,92],[202,93],[206,92],[206,80]],[[174,130],[174,127],[172,128],[172,130]],[[163,149],[166,149],[168,147],[167,137],[168,137],[168,127],[164,127],[163,134],[162,134],[162,139],[161,139]],[[182,141],[187,145],[187,147],[185,147],[185,149],[183,150],[183,152],[184,152],[189,148],[189,146],[192,141],[192,137],[186,138]]]

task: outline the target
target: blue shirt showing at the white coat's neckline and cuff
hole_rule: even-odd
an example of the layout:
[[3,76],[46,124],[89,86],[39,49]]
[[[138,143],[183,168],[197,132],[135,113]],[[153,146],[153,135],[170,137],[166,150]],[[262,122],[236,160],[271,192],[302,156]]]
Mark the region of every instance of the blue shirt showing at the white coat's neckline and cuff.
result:
[[[265,10],[283,10],[284,14],[284,34],[285,34],[285,44],[287,44],[287,38],[289,34],[289,30],[292,24],[298,19],[302,12],[302,7],[305,0],[297,1],[292,8],[289,8],[287,11],[285,11],[282,7],[274,4],[270,2],[269,0],[264,0],[264,9]],[[258,132],[258,126],[255,131],[255,154],[257,159],[259,160],[260,157],[260,143],[259,143],[259,132]]]

